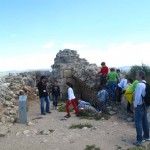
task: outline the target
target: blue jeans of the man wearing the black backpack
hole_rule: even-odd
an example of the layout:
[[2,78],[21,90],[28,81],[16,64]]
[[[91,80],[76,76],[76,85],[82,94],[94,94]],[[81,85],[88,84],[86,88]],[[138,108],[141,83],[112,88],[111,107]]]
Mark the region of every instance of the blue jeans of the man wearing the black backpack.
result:
[[[149,124],[147,119],[147,107],[142,105],[138,105],[135,108],[135,126],[137,133],[137,141],[142,141],[144,138],[149,138]],[[142,129],[144,135],[142,135]]]

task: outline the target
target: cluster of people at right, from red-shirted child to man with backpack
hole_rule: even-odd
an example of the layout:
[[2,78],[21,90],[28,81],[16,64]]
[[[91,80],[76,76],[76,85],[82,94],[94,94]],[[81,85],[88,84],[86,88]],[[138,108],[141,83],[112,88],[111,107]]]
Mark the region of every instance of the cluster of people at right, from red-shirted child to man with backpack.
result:
[[[128,101],[127,112],[134,113],[137,137],[133,144],[138,146],[145,141],[150,141],[149,123],[147,118],[147,109],[149,106],[144,101],[146,95],[149,94],[146,93],[146,91],[148,92],[148,90],[146,90],[148,87],[146,86],[145,72],[138,70],[136,80],[133,81],[131,78],[126,79],[124,75],[121,75],[119,69],[115,71],[114,68],[111,68],[109,73],[109,69],[105,62],[102,62],[101,65],[101,71],[98,72],[98,74],[101,74],[100,86],[104,87],[109,98],[112,101],[116,101],[116,103],[121,103],[121,97],[124,94],[124,97]],[[106,94],[103,94],[103,96],[104,95]],[[105,103],[107,103],[106,100]],[[134,112],[131,110],[131,105],[134,107]]]

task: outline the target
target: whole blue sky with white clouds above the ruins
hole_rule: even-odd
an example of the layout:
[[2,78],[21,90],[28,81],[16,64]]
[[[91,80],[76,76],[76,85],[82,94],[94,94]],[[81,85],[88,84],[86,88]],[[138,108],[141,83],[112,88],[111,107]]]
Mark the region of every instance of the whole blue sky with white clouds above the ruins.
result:
[[0,71],[50,68],[59,50],[150,65],[150,0],[0,0]]

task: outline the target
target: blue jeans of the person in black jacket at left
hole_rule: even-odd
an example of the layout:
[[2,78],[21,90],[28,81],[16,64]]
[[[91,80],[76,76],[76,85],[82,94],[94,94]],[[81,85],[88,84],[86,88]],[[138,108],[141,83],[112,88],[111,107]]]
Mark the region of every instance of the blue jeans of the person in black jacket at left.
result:
[[44,113],[44,101],[46,102],[46,112],[50,112],[50,98],[49,96],[41,97],[41,113]]

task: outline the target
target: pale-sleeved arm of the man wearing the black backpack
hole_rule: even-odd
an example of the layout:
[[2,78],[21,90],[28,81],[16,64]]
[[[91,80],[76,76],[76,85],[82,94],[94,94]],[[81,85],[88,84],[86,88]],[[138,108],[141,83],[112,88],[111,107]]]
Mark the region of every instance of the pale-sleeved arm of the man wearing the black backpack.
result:
[[142,88],[141,85],[138,84],[135,88],[135,97],[134,97],[134,107],[136,108],[142,96]]

